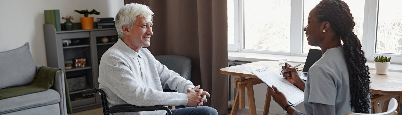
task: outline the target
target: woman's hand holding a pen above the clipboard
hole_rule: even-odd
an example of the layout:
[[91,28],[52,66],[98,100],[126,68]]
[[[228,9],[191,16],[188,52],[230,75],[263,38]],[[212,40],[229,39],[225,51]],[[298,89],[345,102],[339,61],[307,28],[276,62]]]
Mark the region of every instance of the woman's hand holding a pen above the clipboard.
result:
[[282,66],[282,71],[284,72],[282,76],[286,78],[291,84],[295,85],[297,88],[300,90],[304,91],[304,80],[302,80],[297,73],[296,68],[292,68],[290,64],[285,64],[285,66]]

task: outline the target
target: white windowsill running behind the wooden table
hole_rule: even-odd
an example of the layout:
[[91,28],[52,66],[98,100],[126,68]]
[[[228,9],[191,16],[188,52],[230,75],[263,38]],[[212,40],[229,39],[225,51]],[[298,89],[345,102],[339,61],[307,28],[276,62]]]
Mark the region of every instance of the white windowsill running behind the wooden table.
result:
[[[258,61],[278,61],[279,58],[287,58],[287,62],[305,63],[306,57],[304,56],[291,56],[291,55],[275,55],[275,54],[262,54],[262,53],[245,53],[228,51],[228,60],[245,61],[245,62],[258,62]],[[374,62],[367,62],[370,70],[375,70]],[[388,68],[390,72],[402,72],[402,64],[390,64]]]

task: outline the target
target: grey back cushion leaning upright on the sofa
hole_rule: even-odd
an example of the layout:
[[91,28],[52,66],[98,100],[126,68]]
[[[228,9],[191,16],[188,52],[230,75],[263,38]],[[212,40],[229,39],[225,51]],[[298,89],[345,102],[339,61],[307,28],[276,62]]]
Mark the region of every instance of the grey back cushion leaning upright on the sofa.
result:
[[35,63],[29,51],[29,43],[0,52],[0,89],[27,85],[35,77]]

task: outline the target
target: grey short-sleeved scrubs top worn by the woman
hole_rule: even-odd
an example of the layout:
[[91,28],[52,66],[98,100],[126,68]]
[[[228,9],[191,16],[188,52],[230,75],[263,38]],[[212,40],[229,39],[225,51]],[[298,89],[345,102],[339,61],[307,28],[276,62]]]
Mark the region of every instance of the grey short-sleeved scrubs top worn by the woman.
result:
[[[327,49],[308,72],[304,90],[306,113],[314,115],[319,111],[315,109],[323,109],[326,115],[345,115],[352,112],[350,100],[349,72],[343,46]],[[298,114],[299,111],[295,111],[293,115]]]

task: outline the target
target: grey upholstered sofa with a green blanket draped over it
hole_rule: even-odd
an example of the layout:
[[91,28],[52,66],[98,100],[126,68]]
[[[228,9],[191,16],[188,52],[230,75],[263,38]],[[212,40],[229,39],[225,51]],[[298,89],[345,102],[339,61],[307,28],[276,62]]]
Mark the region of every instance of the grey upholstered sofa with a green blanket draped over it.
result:
[[[35,66],[29,44],[0,52],[0,89],[30,84],[40,66]],[[57,71],[53,86],[43,92],[0,100],[2,115],[67,115],[64,72]]]

